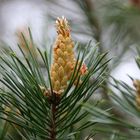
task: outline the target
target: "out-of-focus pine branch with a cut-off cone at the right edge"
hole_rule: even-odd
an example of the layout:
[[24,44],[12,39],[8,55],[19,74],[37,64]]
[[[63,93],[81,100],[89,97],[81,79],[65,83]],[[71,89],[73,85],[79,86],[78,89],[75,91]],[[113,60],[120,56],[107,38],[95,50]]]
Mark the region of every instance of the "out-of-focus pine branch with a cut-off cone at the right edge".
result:
[[[140,69],[140,49],[137,48],[136,63]],[[108,94],[111,108],[107,110],[85,104],[84,109],[92,114],[91,122],[97,123],[94,132],[103,133],[104,139],[110,140],[139,140],[140,139],[140,81],[131,77],[133,87],[112,77],[110,85],[113,88]],[[98,126],[99,123],[99,126]],[[100,125],[102,124],[102,125]]]

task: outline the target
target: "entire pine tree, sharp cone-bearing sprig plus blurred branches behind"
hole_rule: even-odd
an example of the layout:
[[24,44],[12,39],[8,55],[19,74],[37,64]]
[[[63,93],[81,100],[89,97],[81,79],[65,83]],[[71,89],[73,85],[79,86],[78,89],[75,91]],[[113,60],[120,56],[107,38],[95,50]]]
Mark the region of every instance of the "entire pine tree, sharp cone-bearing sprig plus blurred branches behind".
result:
[[[71,1],[78,12],[46,1],[58,8],[53,21],[67,11],[70,24],[56,19],[50,51],[25,29],[17,33],[23,59],[11,48],[2,52],[0,140],[139,140],[140,78],[129,75],[130,86],[111,75],[132,46],[140,68],[139,0]],[[77,43],[79,34],[92,41]]]

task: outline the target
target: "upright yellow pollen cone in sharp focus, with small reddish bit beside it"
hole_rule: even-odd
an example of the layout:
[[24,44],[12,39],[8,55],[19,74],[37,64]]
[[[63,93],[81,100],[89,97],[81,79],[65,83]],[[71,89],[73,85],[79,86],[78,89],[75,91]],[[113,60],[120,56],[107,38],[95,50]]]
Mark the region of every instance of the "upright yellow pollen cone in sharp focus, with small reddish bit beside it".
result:
[[[51,81],[53,90],[59,95],[67,87],[67,82],[75,67],[74,42],[70,34],[70,27],[65,17],[56,20],[57,38],[54,44],[54,60],[51,66]],[[86,72],[85,64],[81,67],[81,74]]]

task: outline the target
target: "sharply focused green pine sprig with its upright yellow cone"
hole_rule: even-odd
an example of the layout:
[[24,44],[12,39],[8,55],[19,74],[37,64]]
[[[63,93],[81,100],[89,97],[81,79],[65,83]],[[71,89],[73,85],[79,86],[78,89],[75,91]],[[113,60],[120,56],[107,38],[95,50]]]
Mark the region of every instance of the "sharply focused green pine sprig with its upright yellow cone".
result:
[[[49,52],[35,48],[39,57],[32,52],[27,41],[34,47],[30,30],[30,38],[22,34],[28,55],[19,45],[22,60],[12,49],[0,56],[0,118],[23,140],[77,140],[82,130],[94,125],[82,121],[88,117],[82,106],[105,79],[107,53],[99,54],[92,41],[76,52],[80,45],[72,41],[64,17],[57,19],[56,28],[51,67]],[[3,129],[1,140],[15,139]]]

